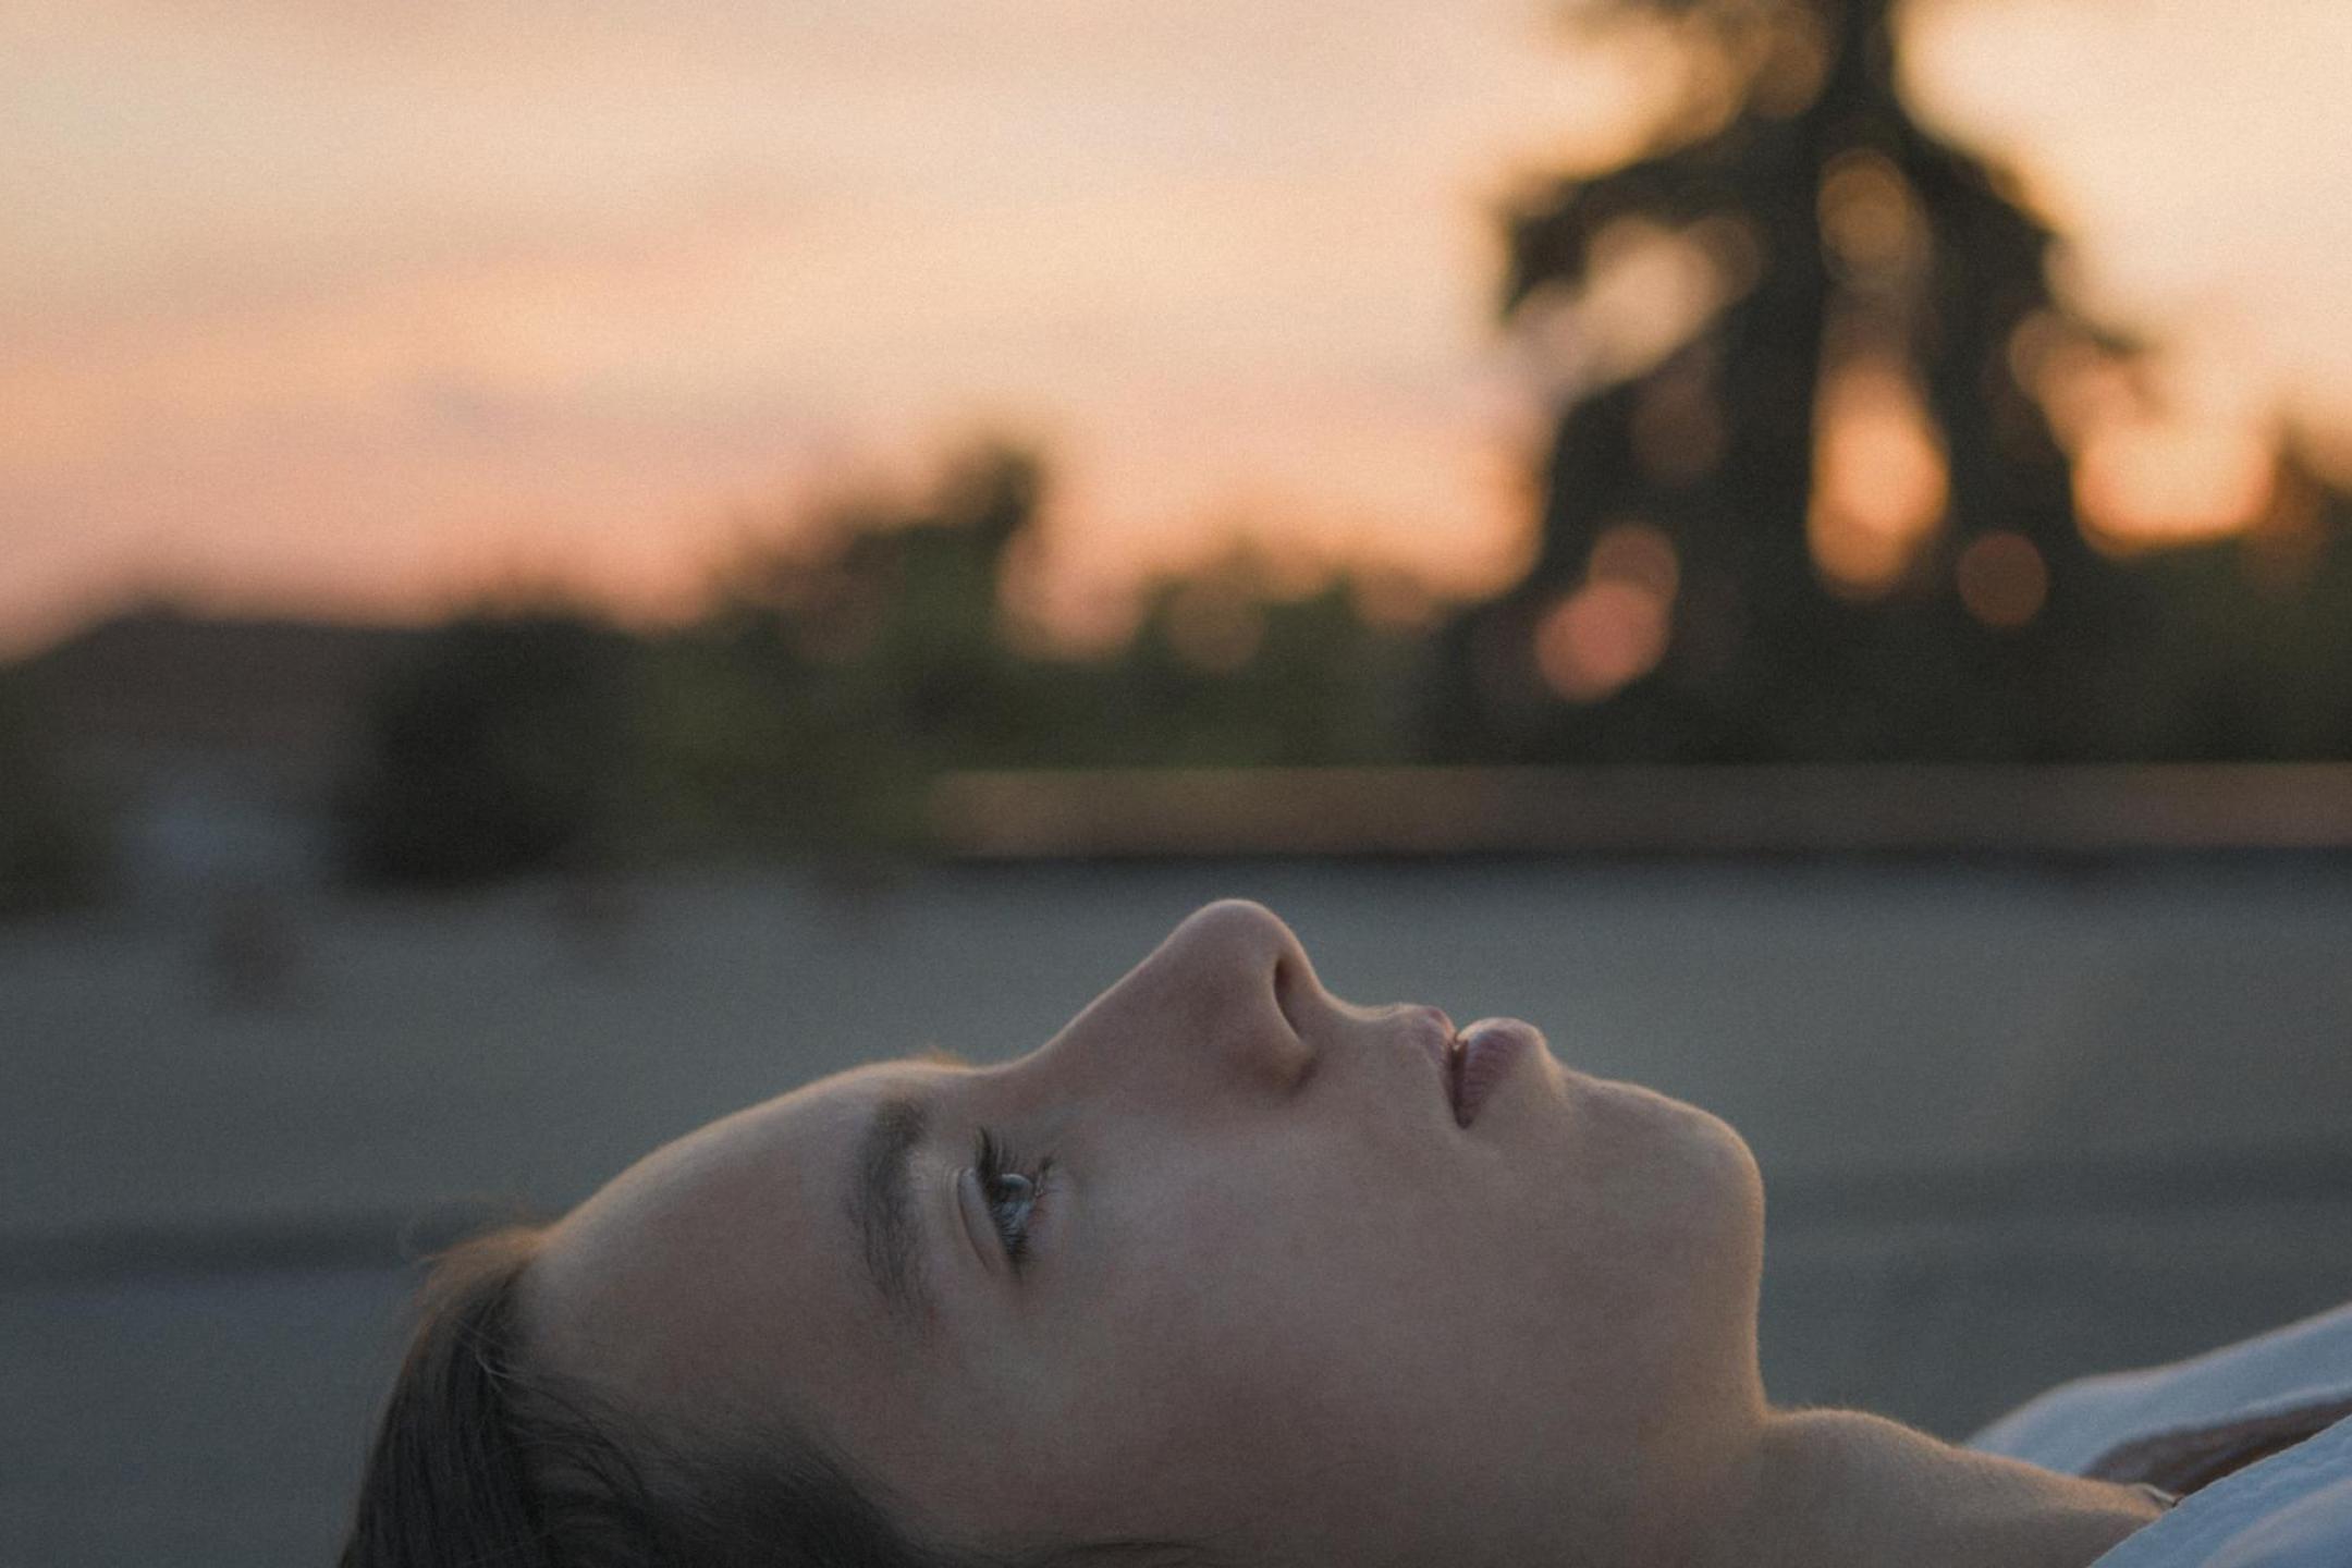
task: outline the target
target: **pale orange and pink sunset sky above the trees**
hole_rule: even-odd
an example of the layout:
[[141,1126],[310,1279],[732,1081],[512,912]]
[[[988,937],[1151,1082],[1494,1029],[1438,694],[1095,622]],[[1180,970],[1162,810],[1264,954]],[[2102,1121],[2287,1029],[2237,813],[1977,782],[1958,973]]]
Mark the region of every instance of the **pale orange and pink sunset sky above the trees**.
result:
[[[1249,529],[1517,559],[1491,214],[1651,68],[1526,0],[0,0],[0,651],[134,592],[689,602],[755,520],[1007,430],[1042,602]],[[1933,0],[1933,122],[2171,343],[2152,524],[2352,442],[2352,5]],[[2352,470],[2352,463],[2345,463]]]

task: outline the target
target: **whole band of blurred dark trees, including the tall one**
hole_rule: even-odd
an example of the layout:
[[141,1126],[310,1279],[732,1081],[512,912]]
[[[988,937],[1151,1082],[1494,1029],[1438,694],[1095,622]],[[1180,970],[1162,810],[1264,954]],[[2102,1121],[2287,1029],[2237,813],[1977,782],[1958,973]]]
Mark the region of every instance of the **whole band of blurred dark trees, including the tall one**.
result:
[[1162,583],[1112,656],[1021,651],[1047,473],[983,442],[922,503],[746,550],[675,635],[452,628],[379,703],[355,863],[915,849],[948,769],[2352,757],[2345,496],[2288,440],[2249,534],[2096,538],[2067,383],[2131,390],[2143,346],[2056,296],[2004,169],[1912,118],[1889,9],[1581,12],[1670,28],[1682,101],[1503,214],[1503,317],[1541,334],[1644,254],[1698,287],[1670,343],[1585,331],[1498,597],[1399,628],[1244,552]]

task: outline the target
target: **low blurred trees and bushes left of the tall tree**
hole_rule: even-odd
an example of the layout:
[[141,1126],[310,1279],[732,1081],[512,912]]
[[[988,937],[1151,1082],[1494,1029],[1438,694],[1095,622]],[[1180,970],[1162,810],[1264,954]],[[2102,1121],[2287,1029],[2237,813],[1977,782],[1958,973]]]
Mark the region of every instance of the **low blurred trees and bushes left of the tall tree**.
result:
[[374,696],[339,799],[353,870],[915,851],[948,769],[1404,759],[1416,646],[1348,578],[1282,597],[1235,555],[1160,583],[1112,656],[1021,651],[1004,585],[1042,484],[983,442],[927,498],[746,548],[663,635],[557,604],[445,628]]

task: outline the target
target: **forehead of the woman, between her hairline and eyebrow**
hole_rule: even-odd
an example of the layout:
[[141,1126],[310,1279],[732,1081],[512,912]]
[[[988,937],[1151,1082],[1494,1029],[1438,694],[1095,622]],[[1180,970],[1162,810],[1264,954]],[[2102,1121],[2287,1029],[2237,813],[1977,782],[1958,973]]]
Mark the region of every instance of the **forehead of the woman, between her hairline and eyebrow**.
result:
[[548,1237],[546,1354],[623,1399],[717,1403],[870,1382],[877,1312],[849,1222],[873,1107],[924,1077],[868,1067],[722,1117],[607,1182]]

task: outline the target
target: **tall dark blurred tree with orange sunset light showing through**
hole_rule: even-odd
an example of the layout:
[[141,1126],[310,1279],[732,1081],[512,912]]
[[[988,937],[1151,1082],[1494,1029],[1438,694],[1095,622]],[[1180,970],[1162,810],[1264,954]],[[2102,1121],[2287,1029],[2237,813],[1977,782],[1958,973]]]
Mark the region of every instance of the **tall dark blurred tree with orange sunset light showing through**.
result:
[[2051,233],[2006,176],[1910,118],[1891,9],[1581,7],[1668,28],[1686,92],[1642,158],[1510,214],[1505,310],[1573,320],[1646,252],[1696,270],[1712,315],[1649,362],[1588,355],[1531,574],[1444,632],[1435,752],[2154,743],[2122,658],[2147,595],[2084,541],[2032,388],[2046,360],[2131,346],[2053,299]]

